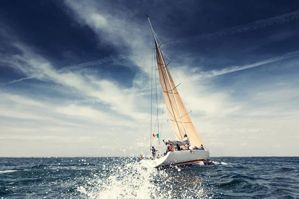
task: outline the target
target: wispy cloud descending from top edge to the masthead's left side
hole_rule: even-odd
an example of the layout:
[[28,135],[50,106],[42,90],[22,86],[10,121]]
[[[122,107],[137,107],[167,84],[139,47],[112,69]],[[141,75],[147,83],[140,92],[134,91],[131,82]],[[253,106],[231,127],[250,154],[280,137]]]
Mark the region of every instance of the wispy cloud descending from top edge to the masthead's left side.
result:
[[145,31],[149,30],[148,23],[139,24],[130,20],[130,13],[121,10],[116,12],[116,9],[111,9],[106,3],[99,6],[97,1],[88,2],[66,0],[65,4],[73,10],[73,17],[79,23],[87,24],[100,38],[105,38],[101,42],[114,45],[121,54],[129,52],[130,60],[143,72],[150,74],[150,32]]

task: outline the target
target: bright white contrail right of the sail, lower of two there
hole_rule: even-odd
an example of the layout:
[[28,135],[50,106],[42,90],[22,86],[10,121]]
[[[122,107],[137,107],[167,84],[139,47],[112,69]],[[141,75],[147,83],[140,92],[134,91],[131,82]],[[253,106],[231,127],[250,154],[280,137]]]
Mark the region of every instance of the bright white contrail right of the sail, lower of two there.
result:
[[277,57],[274,57],[274,58],[271,58],[271,59],[267,59],[267,60],[264,60],[264,61],[260,61],[260,62],[254,63],[254,64],[248,64],[248,65],[245,65],[245,66],[233,66],[233,67],[225,68],[225,69],[222,69],[222,70],[212,70],[212,71],[207,71],[207,72],[201,72],[199,75],[201,77],[211,78],[211,77],[214,77],[214,76],[224,75],[224,74],[232,73],[232,72],[236,72],[236,71],[241,71],[241,70],[244,70],[244,69],[253,68],[253,67],[261,66],[261,65],[264,65],[264,64],[269,64],[269,63],[273,63],[273,62],[277,62],[277,61],[282,61],[282,60],[285,60],[285,59],[290,59],[290,58],[298,57],[298,56],[299,56],[299,50],[291,52],[291,53],[287,53],[285,55],[277,56]]

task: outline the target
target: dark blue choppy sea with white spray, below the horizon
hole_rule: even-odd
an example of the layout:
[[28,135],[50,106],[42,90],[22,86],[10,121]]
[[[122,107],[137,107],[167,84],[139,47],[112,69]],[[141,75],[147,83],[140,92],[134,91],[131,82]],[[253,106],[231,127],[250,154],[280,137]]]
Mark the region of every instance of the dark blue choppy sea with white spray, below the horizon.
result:
[[139,158],[0,158],[0,199],[299,199],[299,157],[218,157],[157,170]]

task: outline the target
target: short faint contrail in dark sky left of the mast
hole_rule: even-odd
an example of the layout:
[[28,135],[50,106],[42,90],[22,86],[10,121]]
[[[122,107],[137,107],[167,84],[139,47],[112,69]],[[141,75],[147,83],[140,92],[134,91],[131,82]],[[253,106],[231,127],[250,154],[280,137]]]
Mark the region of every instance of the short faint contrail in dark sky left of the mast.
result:
[[86,62],[86,63],[78,64],[78,65],[75,65],[75,66],[64,67],[64,68],[58,70],[58,73],[59,72],[66,72],[66,71],[70,71],[70,70],[81,69],[81,68],[84,68],[84,67],[87,67],[87,66],[95,66],[95,65],[105,64],[107,62],[112,62],[112,61],[119,61],[119,60],[122,60],[122,59],[126,59],[128,57],[129,56],[125,56],[125,55],[120,55],[117,58],[115,58],[113,56],[109,56],[109,57],[105,57],[104,59],[100,59],[100,60],[97,60],[97,61]]

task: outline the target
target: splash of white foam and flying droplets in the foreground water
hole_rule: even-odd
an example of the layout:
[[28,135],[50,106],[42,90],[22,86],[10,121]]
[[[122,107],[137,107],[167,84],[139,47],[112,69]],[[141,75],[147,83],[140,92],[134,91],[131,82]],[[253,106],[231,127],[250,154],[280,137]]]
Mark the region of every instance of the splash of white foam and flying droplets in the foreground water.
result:
[[[118,162],[119,163],[119,162]],[[198,186],[188,186],[188,192],[181,192],[177,183],[184,189],[185,181],[172,176],[172,172],[183,172],[180,168],[173,170],[158,170],[151,160],[127,163],[119,166],[99,166],[93,173],[94,179],[89,179],[77,191],[88,199],[170,199],[188,198],[190,194],[195,198],[208,198],[198,181]],[[183,174],[182,174],[183,175]],[[200,180],[200,179],[196,179]],[[176,186],[176,189],[174,188]]]

